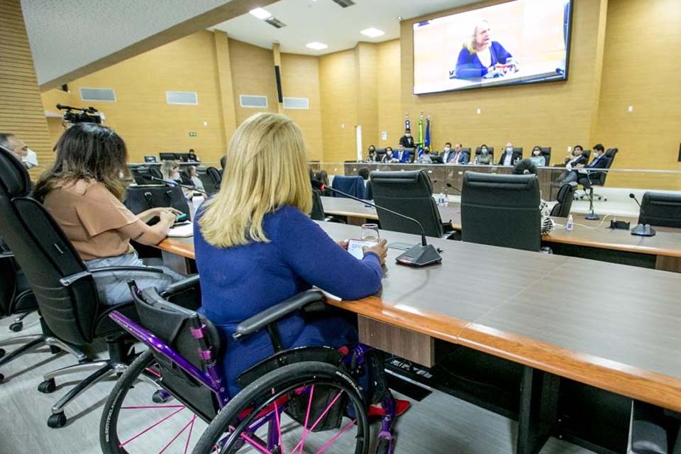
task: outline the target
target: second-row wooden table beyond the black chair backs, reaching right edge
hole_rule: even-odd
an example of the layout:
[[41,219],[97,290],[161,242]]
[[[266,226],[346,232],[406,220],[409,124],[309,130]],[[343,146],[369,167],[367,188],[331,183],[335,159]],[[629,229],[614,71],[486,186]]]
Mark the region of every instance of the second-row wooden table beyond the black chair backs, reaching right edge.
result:
[[[322,197],[321,199],[326,214],[347,216],[348,223],[361,225],[367,221],[378,220],[375,209],[357,201],[340,197]],[[460,204],[450,202],[448,206],[439,206],[438,209],[443,221],[451,221],[455,230],[461,230]],[[680,228],[655,227],[657,235],[641,237],[631,235],[626,230],[608,228],[612,216],[603,223],[587,221],[584,214],[574,214],[573,218],[576,223],[582,225],[576,225],[571,232],[564,228],[557,228],[549,235],[542,236],[542,243],[560,255],[681,272]],[[631,227],[636,226],[637,222],[636,218],[626,216],[616,216],[616,219],[628,221]],[[553,220],[563,226],[567,223],[567,218],[553,218]]]

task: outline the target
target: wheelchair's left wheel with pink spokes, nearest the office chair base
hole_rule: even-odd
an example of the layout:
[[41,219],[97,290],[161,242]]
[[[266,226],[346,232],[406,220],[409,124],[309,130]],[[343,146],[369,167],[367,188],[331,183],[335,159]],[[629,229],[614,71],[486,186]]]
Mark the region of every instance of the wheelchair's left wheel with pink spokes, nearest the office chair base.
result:
[[152,350],[121,375],[104,405],[99,443],[104,454],[189,453],[207,424],[181,402],[160,399]]

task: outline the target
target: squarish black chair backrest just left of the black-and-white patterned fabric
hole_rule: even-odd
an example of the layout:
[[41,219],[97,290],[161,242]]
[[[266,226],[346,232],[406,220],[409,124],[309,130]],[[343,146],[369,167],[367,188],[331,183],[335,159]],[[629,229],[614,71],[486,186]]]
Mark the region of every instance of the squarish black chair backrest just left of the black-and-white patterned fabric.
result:
[[462,239],[539,251],[539,203],[536,175],[466,172],[461,192]]

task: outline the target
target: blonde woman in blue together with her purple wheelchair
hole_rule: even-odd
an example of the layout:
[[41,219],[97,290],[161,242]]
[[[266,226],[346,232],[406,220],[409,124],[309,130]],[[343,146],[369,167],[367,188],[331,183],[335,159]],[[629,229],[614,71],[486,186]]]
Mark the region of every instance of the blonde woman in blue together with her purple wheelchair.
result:
[[[220,191],[195,219],[201,314],[135,286],[141,326],[112,314],[151,348],[106,403],[102,450],[168,452],[186,443],[183,452],[193,446],[196,454],[365,454],[370,445],[392,453],[392,423],[408,403],[392,397],[382,358],[358,343],[354,323],[320,311],[321,294],[311,289],[349,300],[375,294],[385,240],[357,260],[311,221],[304,142],[289,118],[248,118],[226,156]],[[166,293],[177,289],[182,283]],[[188,419],[176,416],[185,408]],[[370,416],[381,419],[375,438]],[[172,426],[163,441],[143,441],[162,426]]]

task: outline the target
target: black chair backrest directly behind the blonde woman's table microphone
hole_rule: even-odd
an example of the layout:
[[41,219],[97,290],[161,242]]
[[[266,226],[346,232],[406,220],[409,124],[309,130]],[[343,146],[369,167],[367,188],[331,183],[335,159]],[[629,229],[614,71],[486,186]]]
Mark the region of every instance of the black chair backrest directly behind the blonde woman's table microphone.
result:
[[[440,211],[433,199],[433,185],[425,170],[371,172],[374,203],[419,221],[426,236],[443,235]],[[421,234],[416,223],[377,210],[381,227],[396,232]]]

